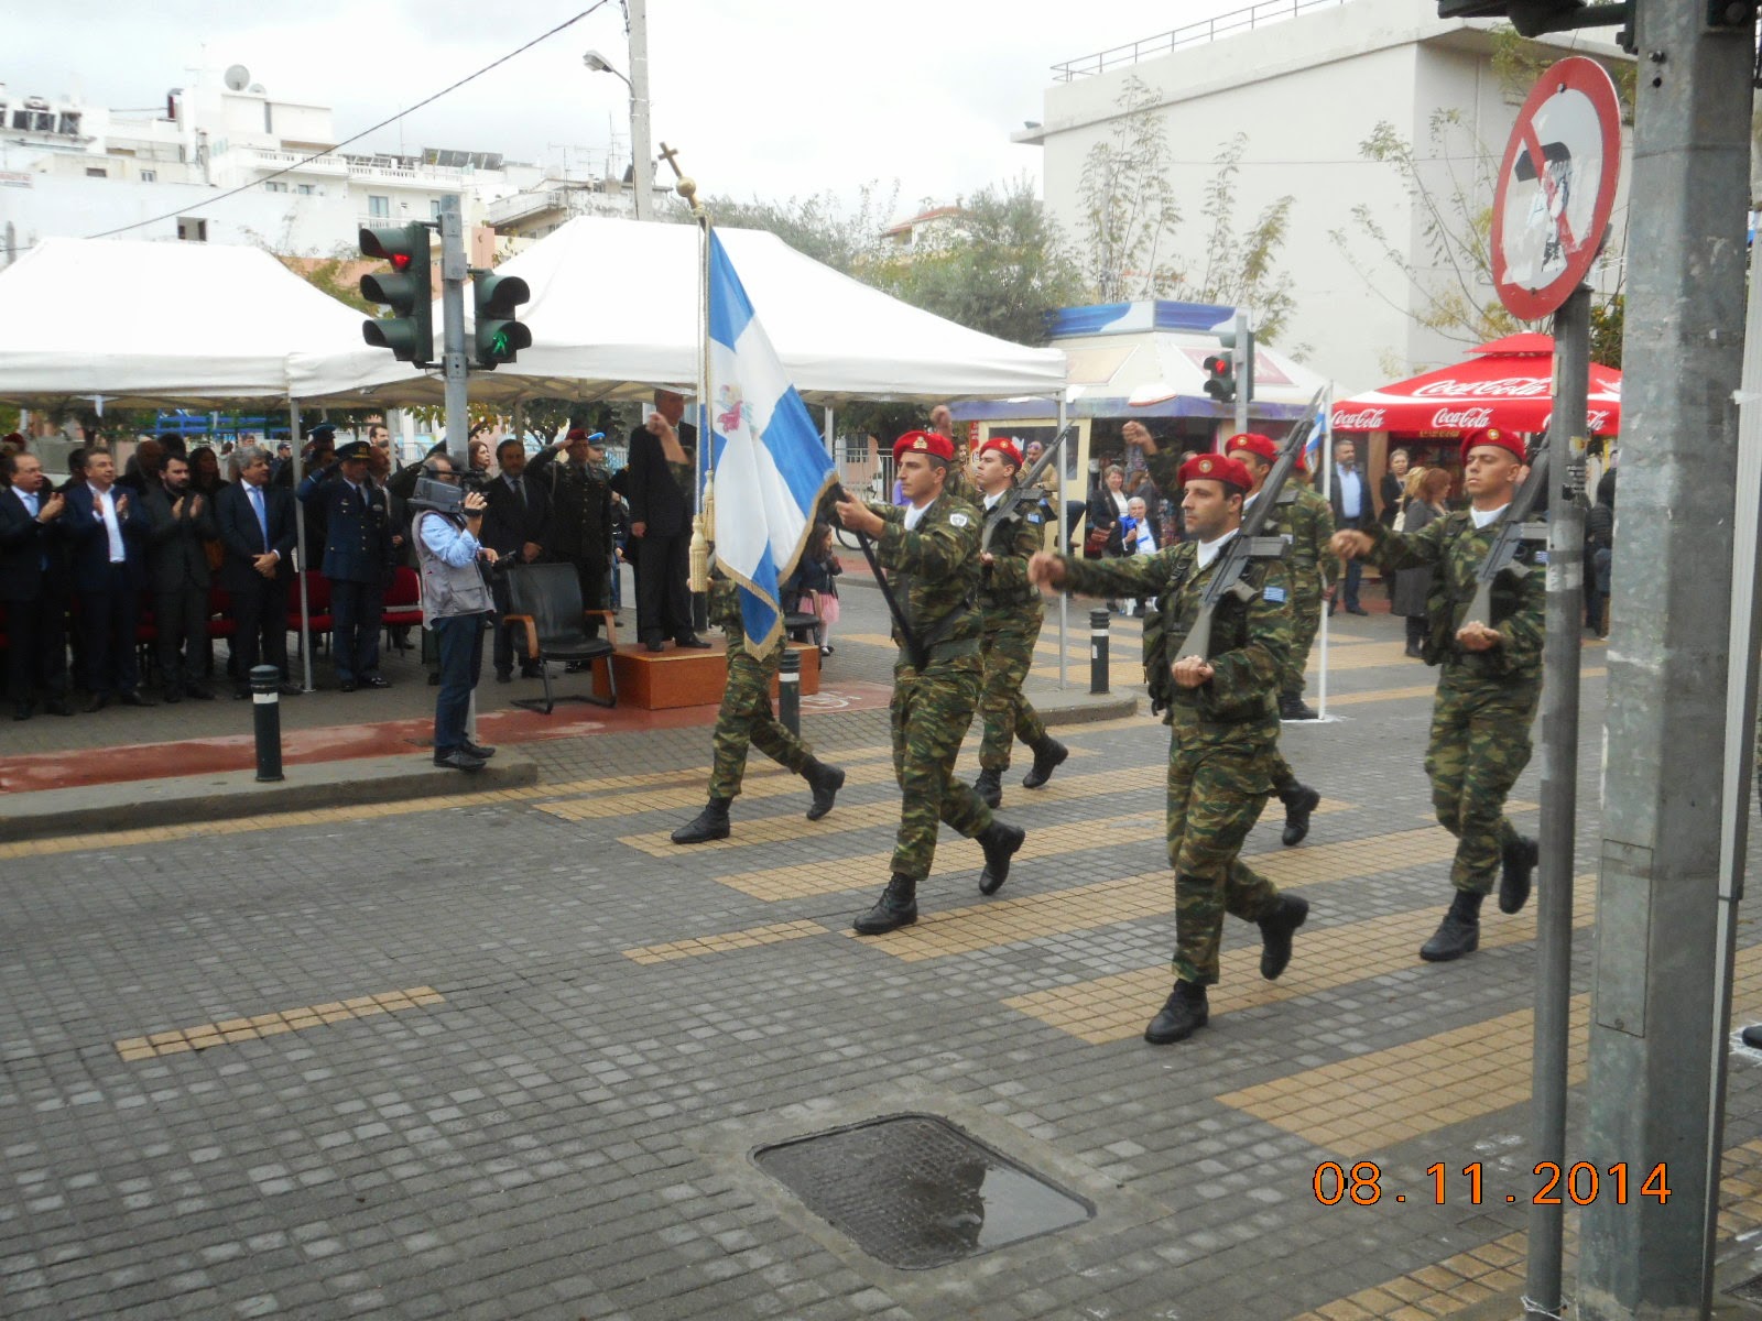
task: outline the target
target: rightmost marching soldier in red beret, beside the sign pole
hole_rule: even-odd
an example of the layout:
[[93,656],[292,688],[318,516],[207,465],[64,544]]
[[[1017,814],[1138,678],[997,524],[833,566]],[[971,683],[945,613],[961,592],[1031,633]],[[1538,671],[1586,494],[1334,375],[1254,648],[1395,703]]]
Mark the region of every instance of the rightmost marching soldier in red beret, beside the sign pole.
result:
[[[1480,902],[1499,877],[1499,911],[1529,898],[1536,842],[1505,817],[1505,798],[1529,763],[1529,726],[1542,697],[1545,574],[1499,574],[1492,618],[1461,618],[1475,578],[1524,474],[1524,444],[1496,426],[1462,437],[1462,488],[1471,509],[1436,518],[1413,534],[1373,525],[1336,532],[1334,551],[1367,557],[1383,571],[1433,565],[1425,601],[1425,664],[1441,666],[1433,703],[1425,775],[1443,828],[1457,837],[1450,884],[1455,900],[1420,958],[1443,963],[1480,948]],[[1524,548],[1528,560],[1535,551]]]

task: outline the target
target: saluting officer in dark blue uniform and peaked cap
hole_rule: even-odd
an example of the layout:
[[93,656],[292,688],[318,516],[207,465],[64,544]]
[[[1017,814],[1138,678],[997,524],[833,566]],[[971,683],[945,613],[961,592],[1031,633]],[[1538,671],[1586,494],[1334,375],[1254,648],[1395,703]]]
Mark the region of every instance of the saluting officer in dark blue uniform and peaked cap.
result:
[[321,567],[331,585],[331,657],[344,692],[391,687],[379,673],[379,629],[398,528],[386,491],[368,476],[372,453],[366,440],[345,444],[337,461],[307,474],[298,491],[324,525]]

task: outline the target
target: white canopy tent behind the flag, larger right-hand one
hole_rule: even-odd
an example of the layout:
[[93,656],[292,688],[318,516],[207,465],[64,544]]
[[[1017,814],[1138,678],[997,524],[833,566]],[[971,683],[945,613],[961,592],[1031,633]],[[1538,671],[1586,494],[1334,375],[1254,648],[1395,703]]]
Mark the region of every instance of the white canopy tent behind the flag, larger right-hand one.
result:
[[[809,402],[1057,395],[1064,354],[957,326],[802,255],[775,234],[717,229],[795,387]],[[495,268],[532,289],[532,347],[474,373],[474,400],[645,398],[696,393],[698,231],[580,217]],[[470,305],[465,306],[467,321]],[[440,306],[435,305],[435,329]],[[359,338],[356,333],[354,338]],[[294,359],[303,400],[440,402],[439,375],[384,349]]]

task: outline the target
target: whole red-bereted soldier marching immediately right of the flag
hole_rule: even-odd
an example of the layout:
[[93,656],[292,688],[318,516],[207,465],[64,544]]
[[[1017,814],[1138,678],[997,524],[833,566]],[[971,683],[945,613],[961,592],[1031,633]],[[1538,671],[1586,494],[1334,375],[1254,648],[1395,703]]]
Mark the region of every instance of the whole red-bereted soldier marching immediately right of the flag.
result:
[[[955,447],[932,432],[906,432],[893,465],[906,507],[840,500],[839,521],[874,537],[876,558],[892,574],[904,618],[893,638],[893,773],[900,803],[893,877],[876,905],[853,926],[879,935],[918,921],[918,882],[936,856],[937,821],[946,821],[985,851],[980,893],[992,895],[1010,875],[1010,858],[1024,833],[992,815],[973,789],[955,779],[960,740],[980,697],[980,514],[943,493]],[[904,627],[902,627],[904,625]],[[906,638],[911,632],[911,639]]]

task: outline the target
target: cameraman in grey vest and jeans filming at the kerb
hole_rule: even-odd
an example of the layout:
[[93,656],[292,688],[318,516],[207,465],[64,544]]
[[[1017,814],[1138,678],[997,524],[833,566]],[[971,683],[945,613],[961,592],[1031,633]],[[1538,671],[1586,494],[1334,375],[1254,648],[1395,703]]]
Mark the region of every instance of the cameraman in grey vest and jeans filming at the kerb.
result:
[[[444,488],[416,490],[416,560],[423,576],[423,624],[435,634],[440,652],[440,692],[435,697],[435,766],[483,770],[493,747],[478,747],[465,736],[470,692],[483,668],[483,629],[490,616],[490,585],[481,564],[495,564],[495,551],[478,541],[485,500],[478,491],[456,497],[453,460],[432,454],[428,477]],[[448,490],[451,488],[451,490]]]

